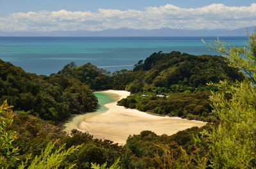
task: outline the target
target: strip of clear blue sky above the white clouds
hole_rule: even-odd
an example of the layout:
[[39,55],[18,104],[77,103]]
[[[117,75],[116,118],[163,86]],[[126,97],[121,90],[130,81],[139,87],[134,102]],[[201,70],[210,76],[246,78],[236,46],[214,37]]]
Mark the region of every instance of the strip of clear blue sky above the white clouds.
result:
[[196,8],[212,3],[222,3],[226,6],[250,6],[255,0],[0,0],[0,16],[15,12],[28,11],[97,11],[99,8],[117,10],[143,10],[146,6],[163,6],[173,4],[180,8]]

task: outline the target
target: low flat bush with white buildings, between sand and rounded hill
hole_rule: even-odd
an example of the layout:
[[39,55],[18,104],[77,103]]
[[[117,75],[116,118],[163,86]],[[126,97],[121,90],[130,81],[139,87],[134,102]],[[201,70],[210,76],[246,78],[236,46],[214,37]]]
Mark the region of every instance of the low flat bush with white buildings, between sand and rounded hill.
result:
[[[146,93],[147,96],[142,95]],[[143,112],[160,115],[179,116],[190,120],[214,122],[216,117],[211,115],[209,102],[210,92],[175,93],[167,97],[159,97],[150,92],[143,92],[129,96],[118,102],[127,108],[136,108]]]

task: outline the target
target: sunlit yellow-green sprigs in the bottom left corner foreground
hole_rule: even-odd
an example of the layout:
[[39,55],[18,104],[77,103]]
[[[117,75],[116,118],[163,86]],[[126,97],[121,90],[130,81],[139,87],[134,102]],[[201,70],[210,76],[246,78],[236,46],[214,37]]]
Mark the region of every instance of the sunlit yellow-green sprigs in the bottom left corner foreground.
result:
[[[16,131],[10,130],[10,126],[13,122],[14,114],[12,110],[10,110],[10,106],[8,106],[7,101],[0,107],[0,167],[8,168],[11,163],[19,160],[17,155],[19,154],[18,147],[13,147],[12,142],[17,138],[15,135]],[[58,141],[58,140],[57,140]],[[57,142],[56,141],[56,142]],[[22,161],[22,165],[19,166],[19,169],[23,168],[58,168],[63,160],[70,155],[72,152],[76,151],[81,145],[76,147],[72,146],[69,149],[63,150],[65,144],[61,145],[56,151],[52,152],[54,149],[55,143],[49,142],[47,147],[45,147],[44,151],[40,156],[36,156],[31,159],[31,156],[27,158],[25,162]],[[55,147],[56,148],[56,147]],[[31,161],[29,161],[31,159]],[[28,165],[29,163],[29,165]],[[73,168],[76,164],[69,166],[69,168]]]

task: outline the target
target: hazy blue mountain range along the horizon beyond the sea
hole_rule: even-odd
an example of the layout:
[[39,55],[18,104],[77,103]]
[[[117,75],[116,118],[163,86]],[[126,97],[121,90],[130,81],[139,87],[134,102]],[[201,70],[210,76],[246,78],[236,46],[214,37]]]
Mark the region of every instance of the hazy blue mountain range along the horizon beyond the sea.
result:
[[[255,26],[247,27],[249,32],[254,30]],[[3,32],[0,36],[246,36],[246,27],[228,30],[228,29],[107,29],[104,31],[49,31],[49,32]]]

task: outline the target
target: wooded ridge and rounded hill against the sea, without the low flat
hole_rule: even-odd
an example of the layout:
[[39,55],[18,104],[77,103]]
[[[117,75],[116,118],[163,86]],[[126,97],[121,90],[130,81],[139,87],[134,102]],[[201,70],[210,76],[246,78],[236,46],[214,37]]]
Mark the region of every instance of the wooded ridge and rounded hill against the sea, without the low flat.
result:
[[135,64],[133,71],[115,71],[111,75],[90,63],[76,66],[71,62],[57,75],[77,78],[95,90],[126,89],[132,93],[148,91],[156,94],[209,91],[211,87],[207,86],[207,82],[244,78],[235,68],[227,65],[224,57],[175,51],[168,54],[154,53],[145,61]]

